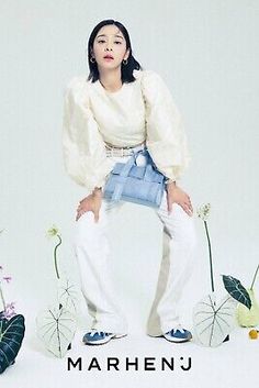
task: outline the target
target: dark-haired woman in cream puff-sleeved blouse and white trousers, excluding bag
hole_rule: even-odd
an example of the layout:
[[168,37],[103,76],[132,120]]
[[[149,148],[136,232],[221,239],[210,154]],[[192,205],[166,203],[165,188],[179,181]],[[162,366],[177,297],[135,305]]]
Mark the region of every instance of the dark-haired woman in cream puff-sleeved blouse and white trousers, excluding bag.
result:
[[133,57],[120,22],[104,20],[93,29],[88,59],[88,79],[74,77],[67,85],[63,132],[66,170],[90,192],[78,206],[75,235],[81,289],[93,318],[83,342],[104,344],[127,333],[109,274],[106,237],[109,218],[124,202],[103,198],[103,187],[116,162],[126,163],[144,147],[167,177],[155,210],[164,225],[164,254],[147,334],[190,341],[178,312],[195,240],[190,197],[176,182],[189,160],[180,114],[161,77]]

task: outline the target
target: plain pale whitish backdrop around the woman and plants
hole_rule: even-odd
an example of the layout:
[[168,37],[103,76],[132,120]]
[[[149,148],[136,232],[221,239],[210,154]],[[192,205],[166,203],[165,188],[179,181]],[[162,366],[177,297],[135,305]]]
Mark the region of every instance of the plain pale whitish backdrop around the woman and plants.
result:
[[[237,330],[217,350],[195,344],[176,347],[145,336],[161,258],[160,225],[148,208],[126,204],[110,230],[114,276],[131,336],[98,350],[83,347],[81,335],[89,321],[82,301],[71,355],[191,355],[191,372],[67,373],[65,361],[42,352],[34,320],[55,292],[54,242],[45,237],[53,223],[64,239],[61,266],[78,281],[70,235],[78,200],[86,191],[63,166],[63,92],[71,77],[88,75],[89,34],[110,18],[125,24],[134,56],[164,77],[183,115],[192,163],[179,185],[194,208],[212,204],[209,225],[218,293],[221,274],[232,274],[249,286],[259,260],[258,2],[2,0],[0,18],[0,230],[4,229],[0,264],[13,277],[4,287],[5,299],[15,300],[18,312],[26,318],[16,365],[0,378],[15,388],[18,380],[19,388],[99,387],[104,381],[119,387],[122,377],[125,387],[136,379],[139,387],[153,381],[153,386],[176,383],[176,387],[202,388],[210,383],[225,388],[241,387],[249,369],[249,383],[256,383],[252,368],[259,345],[249,342],[246,330]],[[194,303],[210,291],[204,230],[200,220],[195,223],[199,247],[195,273],[185,289],[187,321]]]

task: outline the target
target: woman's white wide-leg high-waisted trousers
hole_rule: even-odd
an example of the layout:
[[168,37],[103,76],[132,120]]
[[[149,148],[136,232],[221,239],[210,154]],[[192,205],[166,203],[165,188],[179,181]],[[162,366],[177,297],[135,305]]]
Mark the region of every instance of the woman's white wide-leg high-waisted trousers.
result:
[[[138,151],[139,146],[134,148]],[[126,163],[128,157],[112,157]],[[112,284],[111,250],[108,239],[109,219],[123,206],[123,201],[102,199],[99,221],[91,211],[76,221],[74,247],[79,266],[82,295],[92,317],[91,329],[117,334],[127,333],[127,322],[116,303]],[[136,204],[136,210],[139,204]],[[177,203],[168,214],[166,190],[159,209],[153,209],[162,223],[162,259],[155,300],[147,321],[147,334],[158,336],[181,323],[179,306],[183,287],[192,270],[195,245],[193,218]],[[147,225],[148,228],[148,225]],[[140,253],[139,253],[140,254]]]

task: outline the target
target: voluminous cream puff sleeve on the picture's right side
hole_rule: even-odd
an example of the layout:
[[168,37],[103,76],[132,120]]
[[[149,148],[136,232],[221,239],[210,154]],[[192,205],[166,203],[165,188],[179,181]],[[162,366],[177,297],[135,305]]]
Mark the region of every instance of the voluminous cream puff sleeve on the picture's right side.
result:
[[181,115],[170,90],[157,73],[144,71],[142,90],[146,104],[147,148],[157,168],[166,177],[177,180],[190,160]]

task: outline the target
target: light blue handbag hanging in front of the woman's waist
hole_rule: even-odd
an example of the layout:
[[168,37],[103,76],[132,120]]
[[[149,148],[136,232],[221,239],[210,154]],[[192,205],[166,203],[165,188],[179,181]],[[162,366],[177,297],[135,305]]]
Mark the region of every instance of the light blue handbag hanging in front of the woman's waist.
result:
[[[145,166],[137,166],[143,155]],[[112,201],[128,201],[159,208],[165,190],[166,177],[157,170],[147,148],[134,153],[126,163],[116,163],[104,186],[103,196]]]

